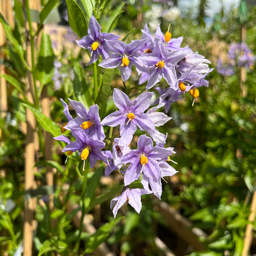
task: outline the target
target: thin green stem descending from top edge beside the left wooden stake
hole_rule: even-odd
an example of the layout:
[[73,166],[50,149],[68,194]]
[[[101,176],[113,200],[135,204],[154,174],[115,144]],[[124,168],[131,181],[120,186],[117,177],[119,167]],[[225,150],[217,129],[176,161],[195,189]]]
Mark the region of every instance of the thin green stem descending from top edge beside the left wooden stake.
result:
[[33,84],[34,84],[34,90],[35,90],[35,106],[38,109],[39,108],[39,95],[38,95],[38,88],[36,87],[35,40],[34,40],[32,21],[31,21],[29,0],[26,0],[26,8],[27,8],[27,20],[28,20],[28,25],[30,27],[30,36],[31,36],[31,39],[30,39],[30,44],[31,44],[31,72],[32,72]]

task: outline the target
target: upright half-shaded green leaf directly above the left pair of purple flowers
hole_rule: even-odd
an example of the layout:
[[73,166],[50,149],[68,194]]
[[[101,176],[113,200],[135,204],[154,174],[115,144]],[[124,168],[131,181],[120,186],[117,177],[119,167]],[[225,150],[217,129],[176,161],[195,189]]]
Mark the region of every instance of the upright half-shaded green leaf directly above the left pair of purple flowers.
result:
[[85,81],[84,69],[82,69],[79,62],[74,64],[75,79],[73,82],[74,93],[78,101],[82,102],[84,106],[88,109],[92,106],[92,97],[90,96],[89,86]]

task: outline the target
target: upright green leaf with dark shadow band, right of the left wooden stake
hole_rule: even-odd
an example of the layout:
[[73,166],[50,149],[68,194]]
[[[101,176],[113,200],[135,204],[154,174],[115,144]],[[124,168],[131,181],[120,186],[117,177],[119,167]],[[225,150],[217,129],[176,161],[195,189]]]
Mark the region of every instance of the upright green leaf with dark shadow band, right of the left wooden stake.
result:
[[41,85],[40,91],[43,89],[43,86],[48,84],[48,82],[50,82],[52,79],[54,74],[54,57],[50,37],[49,35],[42,33],[38,64],[36,65],[38,79]]

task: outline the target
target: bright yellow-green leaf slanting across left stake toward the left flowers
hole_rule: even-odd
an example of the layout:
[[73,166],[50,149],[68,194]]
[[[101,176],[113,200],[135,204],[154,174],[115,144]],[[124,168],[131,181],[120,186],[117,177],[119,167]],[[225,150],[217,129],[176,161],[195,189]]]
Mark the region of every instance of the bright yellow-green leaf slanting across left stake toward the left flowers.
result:
[[57,137],[60,135],[60,126],[57,125],[57,123],[53,122],[52,119],[48,118],[38,109],[32,108],[31,106],[24,103],[22,103],[22,105],[25,108],[30,109],[34,113],[36,119],[38,120],[40,125],[42,125],[44,130],[48,131],[48,133],[50,133],[53,137]]

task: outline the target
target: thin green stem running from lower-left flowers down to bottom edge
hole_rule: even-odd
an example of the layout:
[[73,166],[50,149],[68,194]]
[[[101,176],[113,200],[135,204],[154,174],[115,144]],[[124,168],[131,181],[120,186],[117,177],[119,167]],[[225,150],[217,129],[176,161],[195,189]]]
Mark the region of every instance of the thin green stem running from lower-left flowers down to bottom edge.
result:
[[79,237],[77,238],[77,243],[75,246],[75,251],[77,251],[77,255],[79,255],[79,248],[80,248],[80,241],[81,241],[81,233],[83,228],[83,221],[84,221],[84,215],[85,215],[85,199],[86,199],[86,185],[87,185],[87,174],[89,170],[89,159],[86,161],[85,171],[84,171],[84,179],[82,181],[82,214],[81,214],[81,220],[80,220],[80,226],[79,226]]

